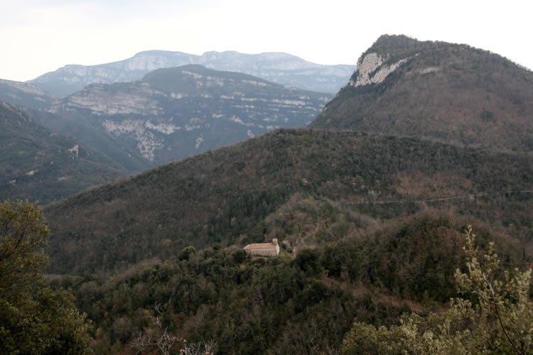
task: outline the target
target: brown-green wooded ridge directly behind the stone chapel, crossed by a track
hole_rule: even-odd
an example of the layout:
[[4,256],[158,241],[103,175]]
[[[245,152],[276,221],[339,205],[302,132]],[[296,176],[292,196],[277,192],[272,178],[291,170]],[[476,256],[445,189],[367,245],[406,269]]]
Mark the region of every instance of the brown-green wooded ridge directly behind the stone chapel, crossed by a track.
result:
[[275,131],[50,205],[50,270],[109,270],[188,245],[273,237],[297,250],[355,233],[367,219],[426,206],[512,224],[531,239],[532,176],[527,154],[348,131]]

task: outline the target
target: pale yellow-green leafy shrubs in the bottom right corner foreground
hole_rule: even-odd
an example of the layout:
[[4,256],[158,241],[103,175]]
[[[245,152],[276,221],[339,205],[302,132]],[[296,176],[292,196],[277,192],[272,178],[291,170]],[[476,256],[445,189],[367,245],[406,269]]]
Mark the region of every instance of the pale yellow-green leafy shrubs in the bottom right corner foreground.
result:
[[355,322],[343,354],[531,354],[532,271],[502,271],[492,243],[478,258],[470,226],[465,233],[466,271],[458,269],[455,275],[462,298],[453,298],[441,313],[404,315],[399,326],[389,329]]

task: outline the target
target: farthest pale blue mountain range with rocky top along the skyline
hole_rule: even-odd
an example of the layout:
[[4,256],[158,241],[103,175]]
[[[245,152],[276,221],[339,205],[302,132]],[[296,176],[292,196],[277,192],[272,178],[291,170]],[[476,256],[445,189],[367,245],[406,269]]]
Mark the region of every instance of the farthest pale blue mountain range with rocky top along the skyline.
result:
[[66,65],[29,83],[65,97],[93,83],[141,80],[156,69],[200,64],[215,70],[242,72],[278,84],[291,84],[316,92],[338,92],[355,70],[354,65],[318,65],[287,53],[243,54],[206,52],[192,55],[181,52],[151,50],[132,58],[101,65]]

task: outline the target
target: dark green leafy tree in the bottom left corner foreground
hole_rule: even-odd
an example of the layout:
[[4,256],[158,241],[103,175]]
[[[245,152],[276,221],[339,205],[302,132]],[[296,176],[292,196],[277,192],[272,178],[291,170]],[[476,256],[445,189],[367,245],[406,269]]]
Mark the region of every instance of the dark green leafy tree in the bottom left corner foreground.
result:
[[38,204],[0,204],[0,349],[3,354],[85,354],[90,322],[67,290],[43,285],[48,224]]

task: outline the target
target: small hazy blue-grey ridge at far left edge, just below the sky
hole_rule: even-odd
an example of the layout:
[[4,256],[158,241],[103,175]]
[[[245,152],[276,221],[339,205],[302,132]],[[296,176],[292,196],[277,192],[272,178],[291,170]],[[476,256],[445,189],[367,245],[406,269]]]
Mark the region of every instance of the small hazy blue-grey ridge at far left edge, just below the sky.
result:
[[46,109],[54,99],[52,94],[35,85],[0,79],[0,100],[8,104],[30,109]]

